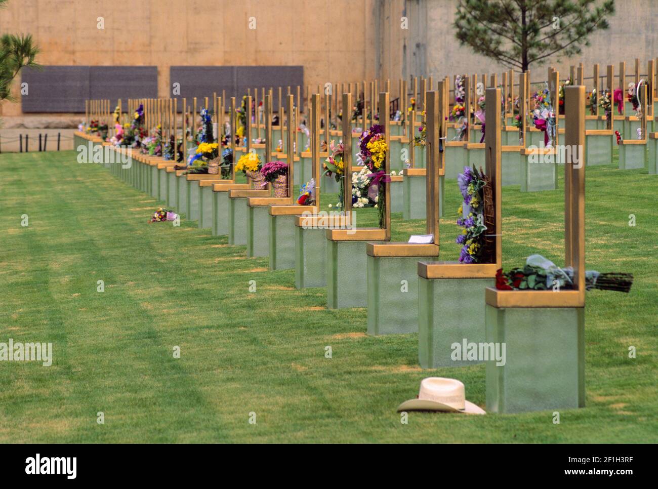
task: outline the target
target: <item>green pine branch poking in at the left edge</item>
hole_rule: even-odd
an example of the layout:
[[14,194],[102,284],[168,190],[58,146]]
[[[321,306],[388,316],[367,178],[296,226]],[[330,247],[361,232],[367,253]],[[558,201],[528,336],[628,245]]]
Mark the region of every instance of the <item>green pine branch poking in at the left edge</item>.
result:
[[[0,8],[6,5],[7,0],[0,0]],[[24,67],[39,68],[34,61],[38,53],[32,34],[4,34],[0,37],[0,100],[14,100],[10,93],[11,82]]]

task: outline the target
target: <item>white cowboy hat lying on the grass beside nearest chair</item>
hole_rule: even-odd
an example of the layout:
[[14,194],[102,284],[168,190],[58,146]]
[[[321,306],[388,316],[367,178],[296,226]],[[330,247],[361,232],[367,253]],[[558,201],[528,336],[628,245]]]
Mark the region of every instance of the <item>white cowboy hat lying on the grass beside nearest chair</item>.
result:
[[464,384],[454,378],[428,377],[420,381],[417,399],[401,403],[397,411],[443,411],[446,413],[486,414],[466,400]]

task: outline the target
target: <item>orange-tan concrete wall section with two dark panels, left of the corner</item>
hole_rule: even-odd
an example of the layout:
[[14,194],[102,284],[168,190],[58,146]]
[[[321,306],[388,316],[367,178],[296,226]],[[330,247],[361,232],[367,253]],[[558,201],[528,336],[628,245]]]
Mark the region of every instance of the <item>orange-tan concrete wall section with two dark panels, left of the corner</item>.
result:
[[[374,56],[367,51],[374,44],[375,5],[376,0],[10,0],[0,11],[0,32],[32,34],[41,64],[158,66],[163,97],[172,65],[302,65],[305,84],[316,87],[374,76]],[[255,29],[249,29],[250,17]],[[1,116],[20,113],[20,103],[0,105]]]

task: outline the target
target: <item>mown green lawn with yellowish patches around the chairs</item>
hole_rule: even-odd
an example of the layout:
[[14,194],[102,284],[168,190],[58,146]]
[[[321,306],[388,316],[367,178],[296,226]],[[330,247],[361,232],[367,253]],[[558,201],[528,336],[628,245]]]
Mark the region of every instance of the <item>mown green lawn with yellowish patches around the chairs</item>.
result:
[[[584,409],[559,425],[549,411],[403,425],[395,408],[425,376],[459,378],[484,406],[484,366],[421,371],[417,335],[367,336],[366,309],[327,310],[326,290],[295,290],[293,270],[269,272],[197,222],[147,224],[154,199],[72,152],[0,155],[0,342],[54,349],[51,367],[0,362],[0,441],[658,442],[657,184],[587,169],[588,269],[635,283],[588,292]],[[446,191],[442,258],[456,259],[456,182]],[[536,252],[563,263],[563,198],[503,189],[505,267]],[[423,230],[393,215],[393,240]]]

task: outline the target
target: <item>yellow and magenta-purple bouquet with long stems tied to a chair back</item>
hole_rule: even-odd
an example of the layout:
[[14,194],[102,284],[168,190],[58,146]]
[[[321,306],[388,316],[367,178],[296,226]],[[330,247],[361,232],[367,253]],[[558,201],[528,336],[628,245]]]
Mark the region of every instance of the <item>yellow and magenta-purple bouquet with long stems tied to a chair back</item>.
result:
[[386,225],[386,182],[391,178],[386,174],[384,169],[384,160],[386,159],[386,134],[384,128],[379,124],[374,124],[367,131],[364,131],[359,138],[360,157],[363,164],[370,170],[369,178],[370,188],[368,188],[368,197],[376,202],[375,207],[379,214],[379,227],[384,229]]

